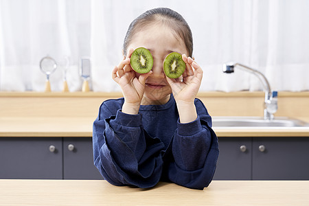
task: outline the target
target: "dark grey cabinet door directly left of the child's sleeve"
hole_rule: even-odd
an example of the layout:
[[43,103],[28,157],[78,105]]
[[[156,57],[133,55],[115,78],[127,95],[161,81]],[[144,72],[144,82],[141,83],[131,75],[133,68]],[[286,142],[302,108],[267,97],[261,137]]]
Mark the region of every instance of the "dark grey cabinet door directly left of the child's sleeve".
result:
[[63,138],[64,179],[103,179],[93,165],[91,137]]

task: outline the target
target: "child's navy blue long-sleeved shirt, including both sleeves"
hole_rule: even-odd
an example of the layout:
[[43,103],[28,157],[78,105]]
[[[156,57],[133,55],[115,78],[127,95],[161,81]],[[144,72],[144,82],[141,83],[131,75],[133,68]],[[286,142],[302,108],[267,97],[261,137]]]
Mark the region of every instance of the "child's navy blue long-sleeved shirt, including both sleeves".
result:
[[201,100],[198,117],[181,124],[173,95],[163,105],[141,105],[137,115],[122,113],[124,98],[106,100],[93,122],[94,164],[113,185],[153,187],[169,181],[203,190],[218,159],[218,138]]

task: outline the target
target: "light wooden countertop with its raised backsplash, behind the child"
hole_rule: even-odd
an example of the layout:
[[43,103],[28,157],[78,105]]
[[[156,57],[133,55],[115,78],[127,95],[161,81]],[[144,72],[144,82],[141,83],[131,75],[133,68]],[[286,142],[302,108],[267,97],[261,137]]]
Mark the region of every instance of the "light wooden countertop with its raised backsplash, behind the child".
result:
[[[91,137],[104,100],[122,93],[0,92],[0,137]],[[211,116],[259,116],[263,92],[204,92],[198,98]],[[275,116],[309,122],[309,91],[280,92]],[[307,128],[214,128],[218,137],[309,137]]]

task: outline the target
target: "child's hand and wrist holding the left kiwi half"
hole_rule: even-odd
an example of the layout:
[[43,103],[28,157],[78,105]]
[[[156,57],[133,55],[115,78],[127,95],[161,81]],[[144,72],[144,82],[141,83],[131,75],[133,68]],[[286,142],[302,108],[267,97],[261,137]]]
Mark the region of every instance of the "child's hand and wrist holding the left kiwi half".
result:
[[145,91],[145,81],[152,71],[148,73],[137,73],[130,67],[130,56],[134,49],[129,49],[128,54],[122,62],[112,71],[112,78],[122,88],[124,105],[122,112],[136,115],[139,112],[141,99]]

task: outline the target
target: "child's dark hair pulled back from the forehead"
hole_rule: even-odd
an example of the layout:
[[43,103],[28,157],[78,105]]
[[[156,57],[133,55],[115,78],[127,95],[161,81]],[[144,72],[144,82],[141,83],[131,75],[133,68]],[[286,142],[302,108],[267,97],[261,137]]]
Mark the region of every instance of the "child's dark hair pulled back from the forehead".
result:
[[183,16],[181,16],[181,14],[169,8],[155,8],[152,10],[148,10],[144,12],[144,14],[138,16],[137,19],[135,19],[132,23],[130,23],[128,31],[126,32],[126,37],[124,38],[123,49],[125,56],[126,49],[133,40],[133,36],[137,32],[143,30],[145,27],[154,25],[156,23],[162,23],[174,30],[174,32],[185,43],[185,47],[187,48],[187,52],[189,52],[189,56],[192,56],[193,38],[190,27],[185,21],[185,19],[183,19]]

